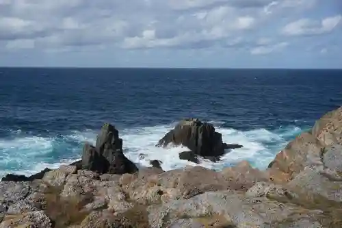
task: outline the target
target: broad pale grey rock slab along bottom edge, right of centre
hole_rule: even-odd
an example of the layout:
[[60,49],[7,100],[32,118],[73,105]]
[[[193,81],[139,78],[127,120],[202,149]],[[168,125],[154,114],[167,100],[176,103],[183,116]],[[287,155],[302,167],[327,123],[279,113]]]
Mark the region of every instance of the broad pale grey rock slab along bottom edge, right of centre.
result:
[[149,207],[151,227],[168,227],[181,218],[211,217],[221,214],[236,227],[293,227],[293,221],[309,220],[315,227],[321,212],[265,197],[246,198],[233,191],[206,192],[187,200]]

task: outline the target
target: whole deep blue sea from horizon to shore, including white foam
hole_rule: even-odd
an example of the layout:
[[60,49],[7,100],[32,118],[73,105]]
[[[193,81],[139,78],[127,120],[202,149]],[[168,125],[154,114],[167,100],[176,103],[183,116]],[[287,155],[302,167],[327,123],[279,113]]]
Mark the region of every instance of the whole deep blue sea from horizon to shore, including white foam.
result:
[[340,70],[0,68],[0,177],[79,159],[105,122],[119,129],[124,153],[137,164],[195,165],[179,160],[184,148],[155,147],[187,117],[209,121],[224,142],[244,146],[201,166],[220,170],[248,160],[266,168],[339,105]]

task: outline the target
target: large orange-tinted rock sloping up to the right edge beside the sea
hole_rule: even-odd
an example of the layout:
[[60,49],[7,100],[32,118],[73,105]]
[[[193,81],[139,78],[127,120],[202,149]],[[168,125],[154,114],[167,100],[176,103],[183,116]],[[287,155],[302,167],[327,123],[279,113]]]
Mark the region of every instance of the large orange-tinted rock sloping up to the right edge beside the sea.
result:
[[342,144],[342,107],[328,112],[311,131],[289,142],[269,164],[268,172],[277,182],[291,181],[306,166],[320,166],[322,153],[334,144]]

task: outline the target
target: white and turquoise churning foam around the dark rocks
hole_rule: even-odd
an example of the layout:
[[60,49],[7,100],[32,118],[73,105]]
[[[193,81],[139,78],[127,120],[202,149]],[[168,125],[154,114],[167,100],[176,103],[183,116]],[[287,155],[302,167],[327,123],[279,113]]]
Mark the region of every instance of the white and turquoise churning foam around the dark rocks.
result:
[[[232,166],[241,160],[248,160],[257,168],[266,168],[276,153],[284,148],[289,140],[302,132],[300,127],[295,126],[280,127],[274,131],[267,129],[238,131],[221,127],[224,124],[222,122],[211,121],[211,123],[222,134],[224,142],[244,146],[227,153],[217,163],[200,160],[200,166],[215,170]],[[150,160],[161,160],[164,170],[197,165],[179,159],[179,153],[187,150],[184,147],[166,149],[155,147],[158,140],[172,127],[174,124],[119,129],[120,137],[124,141],[124,153],[130,160],[142,166],[149,166]],[[57,168],[62,164],[75,162],[81,157],[83,143],[94,143],[96,134],[96,131],[87,130],[53,137],[38,137],[23,135],[20,130],[13,131],[14,137],[0,139],[0,176],[7,173],[32,175],[46,167]]]

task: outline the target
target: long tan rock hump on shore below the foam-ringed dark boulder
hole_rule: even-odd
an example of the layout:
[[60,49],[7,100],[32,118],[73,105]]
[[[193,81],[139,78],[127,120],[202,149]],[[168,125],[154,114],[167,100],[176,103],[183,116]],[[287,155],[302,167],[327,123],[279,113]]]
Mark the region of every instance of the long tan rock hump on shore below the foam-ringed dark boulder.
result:
[[[156,170],[157,171],[157,170]],[[124,175],[120,181],[130,199],[143,204],[189,199],[207,191],[241,189],[235,181],[201,166],[145,175]]]

